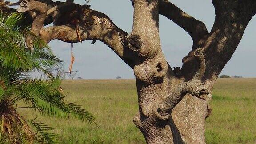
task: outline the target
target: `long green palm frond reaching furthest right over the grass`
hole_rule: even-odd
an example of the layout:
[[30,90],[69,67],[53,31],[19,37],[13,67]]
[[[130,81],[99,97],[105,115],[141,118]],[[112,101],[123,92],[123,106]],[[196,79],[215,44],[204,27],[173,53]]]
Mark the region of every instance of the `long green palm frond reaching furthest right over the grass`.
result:
[[[60,92],[60,79],[54,80],[32,80],[22,85],[26,94],[22,94],[26,101],[37,108],[42,114],[68,119],[74,117],[81,121],[92,124],[96,120],[91,113],[75,103],[67,104],[65,96]],[[25,91],[26,90],[26,91]]]

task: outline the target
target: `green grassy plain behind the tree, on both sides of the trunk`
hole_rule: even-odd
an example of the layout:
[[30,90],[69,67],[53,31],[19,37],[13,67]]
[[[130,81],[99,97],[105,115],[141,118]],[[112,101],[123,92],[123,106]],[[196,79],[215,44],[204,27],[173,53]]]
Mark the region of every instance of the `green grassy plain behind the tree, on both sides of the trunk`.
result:
[[[135,80],[64,80],[68,101],[88,108],[97,125],[45,118],[63,144],[141,144],[144,137],[132,123],[137,112]],[[256,143],[256,79],[219,79],[212,91],[212,116],[206,120],[207,144]],[[24,116],[33,117],[31,111]]]

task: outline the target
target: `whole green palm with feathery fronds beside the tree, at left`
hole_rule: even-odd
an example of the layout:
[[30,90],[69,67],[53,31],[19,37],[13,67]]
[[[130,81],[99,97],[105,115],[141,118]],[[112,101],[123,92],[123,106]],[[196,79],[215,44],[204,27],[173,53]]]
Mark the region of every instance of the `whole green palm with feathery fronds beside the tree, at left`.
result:
[[[0,143],[56,143],[59,137],[36,120],[35,112],[89,123],[95,120],[83,107],[64,100],[60,76],[46,71],[61,66],[61,60],[21,25],[22,20],[20,14],[0,13]],[[32,38],[33,51],[26,47],[28,36]],[[31,78],[31,72],[41,72],[44,77]],[[20,114],[24,109],[34,113],[30,119]]]

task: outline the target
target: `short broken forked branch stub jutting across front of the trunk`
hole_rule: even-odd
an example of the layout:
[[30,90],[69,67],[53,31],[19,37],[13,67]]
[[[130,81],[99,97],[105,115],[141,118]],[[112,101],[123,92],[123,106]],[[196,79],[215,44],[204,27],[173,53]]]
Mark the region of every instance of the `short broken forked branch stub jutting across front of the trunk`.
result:
[[196,72],[192,80],[183,81],[176,88],[176,90],[170,94],[166,100],[160,102],[157,107],[156,117],[166,120],[171,116],[172,109],[182,100],[186,94],[199,97],[200,99],[211,99],[209,88],[206,84],[201,82],[205,72],[205,59],[204,48],[197,48],[194,51],[199,62],[199,69]]

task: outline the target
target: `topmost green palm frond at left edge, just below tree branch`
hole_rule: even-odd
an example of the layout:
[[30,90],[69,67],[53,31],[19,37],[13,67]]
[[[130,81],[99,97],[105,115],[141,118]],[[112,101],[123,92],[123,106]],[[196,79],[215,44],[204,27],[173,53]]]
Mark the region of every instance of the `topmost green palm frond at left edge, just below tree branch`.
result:
[[4,67],[26,66],[24,38],[20,35],[20,14],[0,14],[0,62]]

